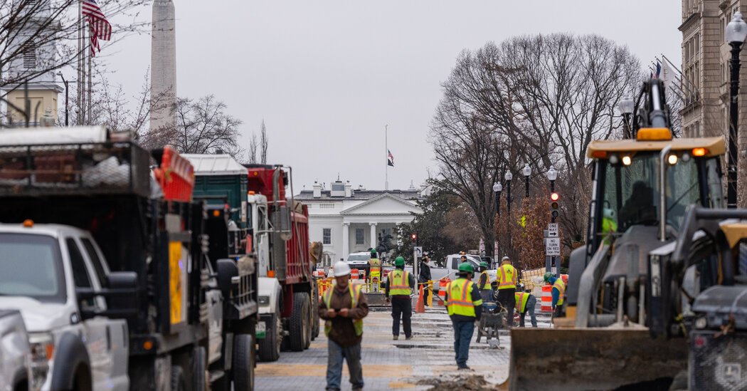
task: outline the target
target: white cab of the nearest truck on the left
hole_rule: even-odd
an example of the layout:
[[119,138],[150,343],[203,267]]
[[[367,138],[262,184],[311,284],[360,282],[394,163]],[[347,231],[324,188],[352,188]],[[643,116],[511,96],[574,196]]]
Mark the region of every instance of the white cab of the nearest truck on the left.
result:
[[63,225],[0,224],[0,253],[0,308],[19,310],[28,329],[30,389],[128,390],[117,315],[134,303],[114,291],[134,288],[134,274],[110,272],[90,234]]

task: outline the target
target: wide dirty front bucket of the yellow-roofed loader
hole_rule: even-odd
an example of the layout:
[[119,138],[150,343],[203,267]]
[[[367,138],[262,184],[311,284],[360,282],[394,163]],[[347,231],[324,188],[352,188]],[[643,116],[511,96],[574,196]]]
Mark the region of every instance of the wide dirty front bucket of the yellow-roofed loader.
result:
[[686,339],[646,329],[511,330],[509,390],[669,390],[686,370]]

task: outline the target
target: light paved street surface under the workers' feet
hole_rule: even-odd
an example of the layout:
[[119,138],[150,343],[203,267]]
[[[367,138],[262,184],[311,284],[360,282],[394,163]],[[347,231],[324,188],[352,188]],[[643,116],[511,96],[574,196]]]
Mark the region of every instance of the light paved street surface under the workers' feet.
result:
[[[538,317],[540,327],[549,327],[549,317]],[[527,319],[527,322],[529,319]],[[371,312],[364,321],[362,344],[363,378],[366,390],[427,390],[416,386],[421,378],[456,374],[453,351],[453,329],[443,307],[427,309],[412,315],[414,338],[391,339],[391,315]],[[500,336],[500,346],[491,347],[486,340],[470,346],[468,365],[474,373],[500,384],[508,376],[510,339]],[[256,390],[324,390],[326,386],[326,338],[323,333],[303,352],[282,352],[275,363],[259,363]],[[350,390],[347,366],[343,369],[343,390]]]

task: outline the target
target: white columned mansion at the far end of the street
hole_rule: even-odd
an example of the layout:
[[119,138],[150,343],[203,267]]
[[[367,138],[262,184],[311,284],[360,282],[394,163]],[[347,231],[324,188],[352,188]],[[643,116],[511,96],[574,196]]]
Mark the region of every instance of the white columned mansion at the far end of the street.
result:
[[309,206],[309,238],[324,244],[325,258],[332,263],[346,259],[349,253],[368,251],[379,243],[379,236],[397,237],[397,224],[412,222],[412,213],[422,213],[417,201],[429,189],[410,185],[408,190],[353,189],[339,179],[329,190],[314,183],[313,190],[295,196]]

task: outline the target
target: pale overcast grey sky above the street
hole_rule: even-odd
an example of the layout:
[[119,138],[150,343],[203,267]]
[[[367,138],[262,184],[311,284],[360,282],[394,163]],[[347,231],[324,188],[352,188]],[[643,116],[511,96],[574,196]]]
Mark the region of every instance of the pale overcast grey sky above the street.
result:
[[[642,64],[681,62],[680,0],[175,0],[179,96],[214,94],[244,121],[264,118],[270,162],[314,179],[384,186],[384,126],[395,166],[389,187],[437,170],[428,126],[440,83],[462,49],[521,34],[600,34]],[[147,10],[143,17],[149,19]],[[137,93],[150,37],[104,48],[113,81]],[[108,53],[106,53],[108,52]]]

